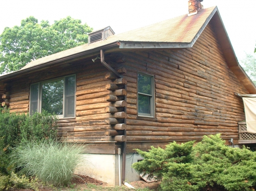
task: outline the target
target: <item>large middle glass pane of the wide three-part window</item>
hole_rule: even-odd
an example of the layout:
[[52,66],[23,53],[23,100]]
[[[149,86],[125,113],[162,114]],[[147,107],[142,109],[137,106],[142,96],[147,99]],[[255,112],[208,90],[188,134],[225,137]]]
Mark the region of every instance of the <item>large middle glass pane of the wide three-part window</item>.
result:
[[42,84],[42,109],[56,115],[63,115],[64,80]]

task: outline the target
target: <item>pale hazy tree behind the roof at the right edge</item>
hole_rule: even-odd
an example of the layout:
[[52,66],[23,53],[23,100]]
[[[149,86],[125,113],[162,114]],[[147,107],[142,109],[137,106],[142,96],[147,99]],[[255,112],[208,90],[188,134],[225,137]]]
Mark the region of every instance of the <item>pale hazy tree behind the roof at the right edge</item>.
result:
[[256,55],[246,54],[246,58],[241,60],[241,62],[247,75],[256,84]]

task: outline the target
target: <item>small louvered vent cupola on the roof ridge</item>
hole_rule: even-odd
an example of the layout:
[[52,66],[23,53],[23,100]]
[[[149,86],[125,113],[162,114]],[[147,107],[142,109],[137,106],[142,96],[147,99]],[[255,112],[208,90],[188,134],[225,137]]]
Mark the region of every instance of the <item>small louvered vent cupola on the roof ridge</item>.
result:
[[88,44],[106,40],[106,38],[112,35],[115,35],[115,33],[110,26],[105,27],[103,29],[99,29],[97,31],[93,31],[88,34],[89,36]]

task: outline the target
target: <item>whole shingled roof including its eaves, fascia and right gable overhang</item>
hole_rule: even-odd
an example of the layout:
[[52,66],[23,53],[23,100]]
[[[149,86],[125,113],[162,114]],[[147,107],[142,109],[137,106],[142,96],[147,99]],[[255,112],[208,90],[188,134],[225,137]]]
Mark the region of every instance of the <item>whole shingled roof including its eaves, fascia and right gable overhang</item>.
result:
[[[0,80],[11,80],[27,71],[33,71],[44,66],[52,65],[64,60],[86,58],[96,55],[100,49],[109,52],[117,49],[129,51],[154,49],[184,49],[192,47],[208,22],[213,20],[216,35],[223,50],[229,69],[237,76],[249,93],[256,94],[256,86],[239,65],[234,49],[226,33],[226,29],[219,15],[217,7],[201,9],[196,15],[182,15],[139,29],[109,36],[106,40],[93,44],[84,44],[44,58],[33,60],[19,71],[0,76]],[[113,48],[113,49],[112,49]],[[79,57],[80,56],[80,57]]]

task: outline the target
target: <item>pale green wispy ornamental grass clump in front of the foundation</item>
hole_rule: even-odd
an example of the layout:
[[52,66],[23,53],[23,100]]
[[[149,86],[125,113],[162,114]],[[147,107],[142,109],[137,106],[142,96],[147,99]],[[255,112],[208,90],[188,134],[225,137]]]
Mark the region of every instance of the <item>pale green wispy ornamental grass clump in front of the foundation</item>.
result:
[[37,176],[54,186],[66,186],[82,161],[84,147],[49,139],[28,141],[15,148],[12,158],[21,173]]

